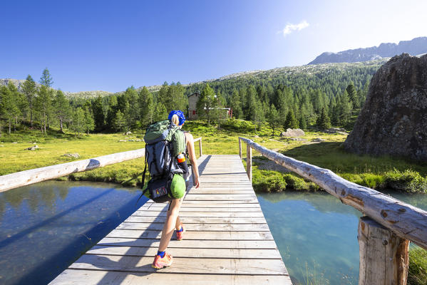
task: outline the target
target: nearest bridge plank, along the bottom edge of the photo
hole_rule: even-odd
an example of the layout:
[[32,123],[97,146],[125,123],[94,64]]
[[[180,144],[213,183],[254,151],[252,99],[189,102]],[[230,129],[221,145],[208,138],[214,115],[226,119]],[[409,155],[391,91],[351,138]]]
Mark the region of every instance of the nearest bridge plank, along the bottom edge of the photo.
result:
[[207,274],[158,274],[106,271],[106,270],[73,270],[63,271],[52,285],[88,285],[88,284],[175,284],[179,280],[185,285],[292,285],[289,276],[286,275],[237,275],[219,274],[209,276]]

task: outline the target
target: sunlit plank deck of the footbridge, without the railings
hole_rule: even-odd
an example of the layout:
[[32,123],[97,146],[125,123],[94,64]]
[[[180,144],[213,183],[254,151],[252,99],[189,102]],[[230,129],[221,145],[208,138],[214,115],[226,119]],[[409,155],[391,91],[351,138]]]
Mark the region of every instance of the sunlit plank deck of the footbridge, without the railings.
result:
[[292,284],[239,155],[198,162],[201,186],[182,202],[172,266],[151,267],[168,204],[148,201],[51,284]]

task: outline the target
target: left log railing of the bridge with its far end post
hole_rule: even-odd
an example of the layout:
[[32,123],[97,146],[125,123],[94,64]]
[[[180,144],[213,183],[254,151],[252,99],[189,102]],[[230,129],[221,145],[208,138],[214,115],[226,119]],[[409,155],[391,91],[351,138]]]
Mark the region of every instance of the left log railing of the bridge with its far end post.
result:
[[[199,152],[201,156],[202,138],[196,138],[194,141],[199,142]],[[143,157],[144,155],[145,148],[140,148],[139,150],[117,152],[111,155],[89,158],[88,160],[77,160],[59,165],[51,165],[35,168],[32,170],[15,172],[9,175],[3,175],[0,176],[0,192],[31,185],[37,182],[63,177],[66,175],[71,175],[72,173],[76,172],[84,172],[96,169],[98,167],[113,165],[115,163],[124,162],[126,160],[135,160],[136,158]]]

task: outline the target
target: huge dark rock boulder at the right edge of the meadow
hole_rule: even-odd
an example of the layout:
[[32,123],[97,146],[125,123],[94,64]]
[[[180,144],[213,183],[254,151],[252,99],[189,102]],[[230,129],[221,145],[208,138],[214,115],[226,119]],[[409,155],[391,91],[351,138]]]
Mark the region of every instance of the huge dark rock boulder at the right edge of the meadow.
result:
[[344,147],[359,154],[427,159],[427,55],[403,53],[379,68]]

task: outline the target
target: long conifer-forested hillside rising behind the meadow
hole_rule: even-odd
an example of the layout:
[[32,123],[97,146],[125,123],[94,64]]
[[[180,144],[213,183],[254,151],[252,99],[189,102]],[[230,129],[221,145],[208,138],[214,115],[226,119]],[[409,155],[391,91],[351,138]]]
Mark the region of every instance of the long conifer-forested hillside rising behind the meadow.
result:
[[252,120],[257,126],[269,123],[276,130],[313,125],[326,128],[331,123],[352,128],[369,81],[385,62],[382,59],[247,71],[188,85],[131,86],[119,93],[62,93],[38,83],[30,92],[23,89],[25,81],[6,79],[0,80],[0,86],[4,86],[0,88],[0,98],[16,100],[8,101],[9,106],[0,110],[0,124],[9,131],[19,130],[17,126],[29,122],[32,116],[38,127],[43,125],[41,129],[57,125],[76,133],[140,129],[167,118],[170,110],[187,112],[187,96],[197,91],[202,103],[197,107],[199,118],[222,120],[221,113],[215,110],[227,107],[232,108],[234,118]]

